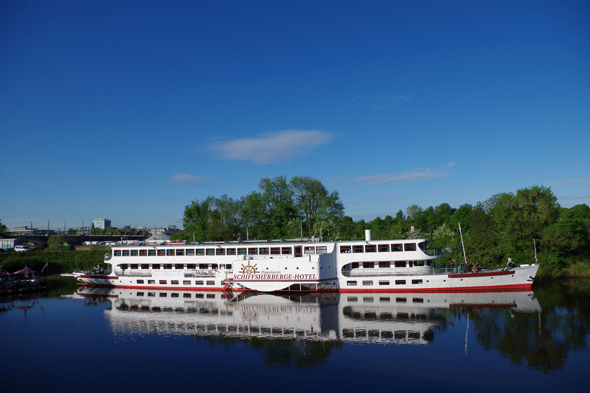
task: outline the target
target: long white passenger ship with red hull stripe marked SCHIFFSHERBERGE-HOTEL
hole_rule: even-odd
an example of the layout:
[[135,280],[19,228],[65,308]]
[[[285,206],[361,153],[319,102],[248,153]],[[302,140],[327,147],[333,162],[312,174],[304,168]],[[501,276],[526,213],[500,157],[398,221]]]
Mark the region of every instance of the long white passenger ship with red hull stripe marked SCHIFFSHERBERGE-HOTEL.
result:
[[225,242],[113,246],[109,267],[77,276],[93,286],[242,292],[448,292],[530,288],[538,264],[461,272],[435,267],[429,239]]

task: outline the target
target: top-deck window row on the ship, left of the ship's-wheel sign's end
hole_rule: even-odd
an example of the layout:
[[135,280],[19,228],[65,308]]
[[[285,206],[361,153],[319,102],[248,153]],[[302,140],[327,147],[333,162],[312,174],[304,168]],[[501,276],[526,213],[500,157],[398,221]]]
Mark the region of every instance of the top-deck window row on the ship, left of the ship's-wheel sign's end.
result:
[[[294,250],[293,250],[294,249]],[[113,256],[310,255],[327,253],[326,246],[245,247],[213,249],[113,250]]]

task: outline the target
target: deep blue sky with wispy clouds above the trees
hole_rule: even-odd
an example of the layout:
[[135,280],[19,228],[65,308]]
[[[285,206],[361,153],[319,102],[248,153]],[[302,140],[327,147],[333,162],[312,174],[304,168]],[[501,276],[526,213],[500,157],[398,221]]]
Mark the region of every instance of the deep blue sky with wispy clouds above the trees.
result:
[[590,204],[588,1],[0,3],[0,219],[181,226],[309,175],[371,220]]

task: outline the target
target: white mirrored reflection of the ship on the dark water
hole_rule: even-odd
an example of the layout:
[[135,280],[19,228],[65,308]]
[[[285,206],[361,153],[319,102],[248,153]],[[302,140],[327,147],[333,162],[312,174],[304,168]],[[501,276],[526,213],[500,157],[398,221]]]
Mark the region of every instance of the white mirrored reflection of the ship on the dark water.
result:
[[116,334],[426,344],[458,308],[540,311],[533,292],[322,293],[307,296],[222,292],[80,288],[106,298]]

